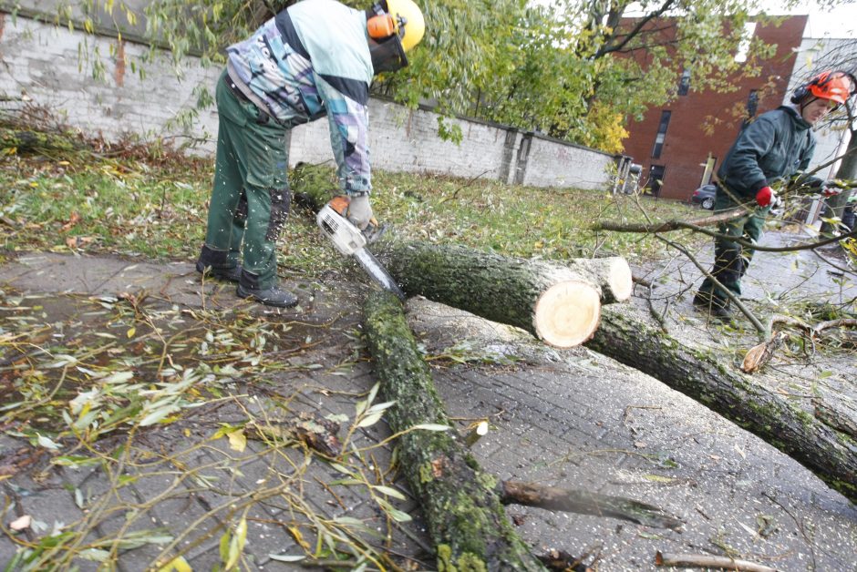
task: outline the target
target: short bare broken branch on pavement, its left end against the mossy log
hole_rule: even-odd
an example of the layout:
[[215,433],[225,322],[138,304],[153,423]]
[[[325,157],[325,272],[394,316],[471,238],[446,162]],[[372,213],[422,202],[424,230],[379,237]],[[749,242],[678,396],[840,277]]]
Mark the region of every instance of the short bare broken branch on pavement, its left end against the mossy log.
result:
[[612,516],[638,525],[673,530],[678,530],[684,524],[680,518],[666,514],[657,506],[625,496],[600,495],[581,489],[565,489],[521,481],[503,481],[498,485],[498,489],[503,505],[536,506],[580,515]]

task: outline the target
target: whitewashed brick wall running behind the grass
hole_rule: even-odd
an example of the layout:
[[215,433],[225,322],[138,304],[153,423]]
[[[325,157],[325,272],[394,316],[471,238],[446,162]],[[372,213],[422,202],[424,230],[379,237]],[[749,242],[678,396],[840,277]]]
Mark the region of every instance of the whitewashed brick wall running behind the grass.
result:
[[[108,139],[126,134],[193,138],[201,153],[212,153],[217,114],[200,112],[189,130],[172,121],[196,106],[199,91],[213,86],[219,67],[202,67],[193,58],[180,65],[163,57],[144,66],[136,62],[149,47],[110,36],[85,36],[67,27],[41,24],[0,13],[0,94],[26,95],[60,111],[67,123]],[[100,60],[94,55],[100,54]],[[103,72],[94,78],[95,62]],[[438,116],[373,98],[369,105],[371,161],[377,169],[429,172],[462,178],[499,179],[538,187],[606,189],[614,158],[594,149],[480,121],[453,119],[461,129],[459,145],[438,135]],[[332,160],[325,120],[295,128],[290,162]]]

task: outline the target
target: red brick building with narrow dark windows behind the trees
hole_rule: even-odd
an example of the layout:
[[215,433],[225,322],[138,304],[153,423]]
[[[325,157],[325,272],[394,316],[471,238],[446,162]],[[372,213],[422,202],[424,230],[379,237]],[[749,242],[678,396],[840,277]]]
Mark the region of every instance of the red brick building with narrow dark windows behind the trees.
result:
[[[689,200],[694,189],[707,184],[717,172],[719,160],[741,128],[733,109],[740,104],[756,107],[756,114],[780,106],[808,16],[787,17],[780,26],[759,25],[755,35],[777,52],[762,62],[759,77],[743,78],[738,90],[730,93],[697,92],[693,77],[683,77],[676,86],[676,98],[665,107],[650,108],[642,121],[627,125],[625,154],[643,167],[641,181],[653,195],[666,199]],[[688,88],[689,87],[689,88]],[[763,96],[763,97],[759,97]],[[719,123],[713,132],[704,128],[709,117]]]

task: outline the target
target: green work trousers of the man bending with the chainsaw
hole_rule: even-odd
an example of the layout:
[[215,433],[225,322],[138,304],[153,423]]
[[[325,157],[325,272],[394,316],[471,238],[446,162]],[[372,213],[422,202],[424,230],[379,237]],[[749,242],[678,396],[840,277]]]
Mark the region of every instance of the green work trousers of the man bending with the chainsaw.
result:
[[277,283],[276,240],[291,203],[287,129],[239,99],[225,77],[216,89],[220,123],[205,244],[226,252],[228,266],[241,254],[242,283],[267,289]]

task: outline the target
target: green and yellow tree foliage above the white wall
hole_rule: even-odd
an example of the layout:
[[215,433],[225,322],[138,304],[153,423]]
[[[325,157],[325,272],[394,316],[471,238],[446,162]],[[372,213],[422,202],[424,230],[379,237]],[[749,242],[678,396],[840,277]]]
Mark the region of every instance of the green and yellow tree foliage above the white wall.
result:
[[[693,89],[729,89],[737,74],[758,73],[772,47],[754,38],[746,62],[734,57],[758,0],[552,2],[419,2],[422,45],[408,68],[379,77],[375,89],[410,107],[428,101],[447,117],[479,117],[617,152],[625,119],[675,97],[683,70]],[[225,46],[293,3],[154,0],[141,19],[174,61],[196,52],[216,63]],[[88,8],[110,14],[115,6],[88,0]]]

